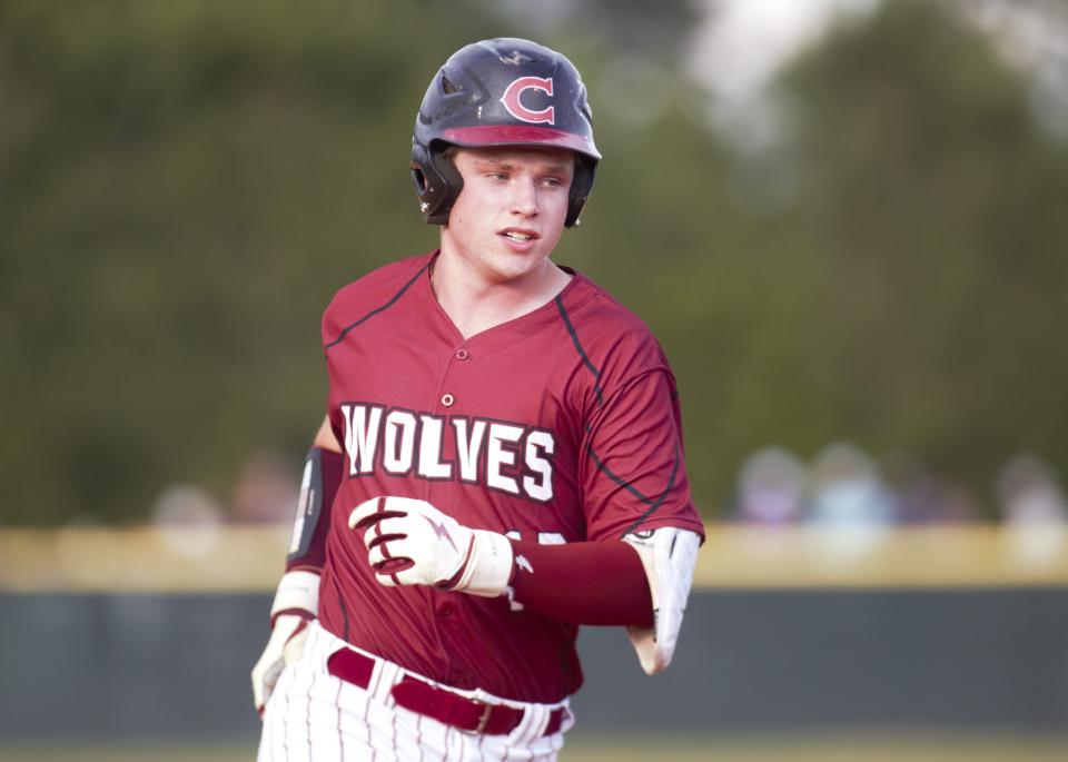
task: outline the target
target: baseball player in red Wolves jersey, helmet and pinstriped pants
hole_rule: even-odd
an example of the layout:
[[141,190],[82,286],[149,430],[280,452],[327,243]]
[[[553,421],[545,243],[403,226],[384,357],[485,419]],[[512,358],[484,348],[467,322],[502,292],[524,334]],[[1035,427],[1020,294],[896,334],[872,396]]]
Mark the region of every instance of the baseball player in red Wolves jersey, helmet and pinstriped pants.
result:
[[323,317],[327,415],[253,670],[259,760],[553,760],[578,625],[671,661],[702,524],[649,329],[550,259],[601,155],[560,53],[434,76],[412,175],[441,248]]

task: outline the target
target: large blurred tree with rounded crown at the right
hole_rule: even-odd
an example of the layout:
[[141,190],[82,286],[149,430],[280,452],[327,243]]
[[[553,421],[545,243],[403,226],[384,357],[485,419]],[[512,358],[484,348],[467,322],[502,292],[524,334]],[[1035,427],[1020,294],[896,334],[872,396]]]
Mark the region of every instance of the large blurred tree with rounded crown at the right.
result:
[[827,276],[840,425],[977,487],[1020,449],[1068,464],[1068,150],[1025,83],[937,7],[902,3],[784,87],[807,195],[784,221]]

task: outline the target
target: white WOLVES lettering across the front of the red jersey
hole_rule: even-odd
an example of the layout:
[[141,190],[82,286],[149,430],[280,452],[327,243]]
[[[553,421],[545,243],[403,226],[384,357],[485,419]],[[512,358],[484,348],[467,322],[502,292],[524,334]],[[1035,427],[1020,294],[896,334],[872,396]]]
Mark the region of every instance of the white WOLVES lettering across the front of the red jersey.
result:
[[[342,403],[340,410],[349,477],[376,468],[394,476],[414,472],[421,478],[482,484],[541,503],[553,498],[552,432],[368,403]],[[454,452],[455,459],[446,452]]]

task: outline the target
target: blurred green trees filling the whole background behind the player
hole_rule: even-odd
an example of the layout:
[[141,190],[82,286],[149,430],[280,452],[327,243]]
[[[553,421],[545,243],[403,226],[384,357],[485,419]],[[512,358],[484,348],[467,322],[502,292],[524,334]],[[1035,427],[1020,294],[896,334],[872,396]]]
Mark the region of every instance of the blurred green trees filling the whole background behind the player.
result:
[[[685,2],[537,37],[591,85],[605,161],[557,260],[656,331],[710,515],[769,442],[907,448],[976,493],[1068,465],[1068,149],[936,3],[886,3],[778,83],[789,141],[740,158],[664,47]],[[528,14],[527,14],[528,17]],[[412,120],[455,49],[534,36],[488,2],[0,4],[0,521],[226,496],[322,416],[332,294],[435,246]],[[629,87],[635,82],[641,87]]]

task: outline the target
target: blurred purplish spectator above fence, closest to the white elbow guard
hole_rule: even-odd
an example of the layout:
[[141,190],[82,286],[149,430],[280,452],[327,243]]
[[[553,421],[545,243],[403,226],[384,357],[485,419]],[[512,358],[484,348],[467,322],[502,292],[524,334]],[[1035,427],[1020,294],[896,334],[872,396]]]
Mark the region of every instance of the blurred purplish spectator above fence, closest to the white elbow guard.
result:
[[739,474],[739,519],[765,526],[797,522],[805,479],[804,464],[793,453],[778,446],[756,451]]

